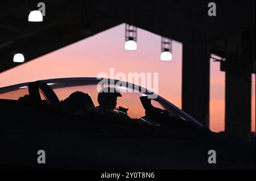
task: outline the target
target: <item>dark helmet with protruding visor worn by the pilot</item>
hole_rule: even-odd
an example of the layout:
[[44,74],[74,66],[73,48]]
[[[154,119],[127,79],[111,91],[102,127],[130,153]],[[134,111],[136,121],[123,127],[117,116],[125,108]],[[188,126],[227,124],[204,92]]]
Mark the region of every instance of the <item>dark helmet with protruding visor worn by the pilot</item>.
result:
[[101,89],[98,93],[98,103],[101,106],[107,106],[111,98],[117,98],[121,96],[122,95],[120,91],[115,89],[114,87],[105,87],[104,89]]

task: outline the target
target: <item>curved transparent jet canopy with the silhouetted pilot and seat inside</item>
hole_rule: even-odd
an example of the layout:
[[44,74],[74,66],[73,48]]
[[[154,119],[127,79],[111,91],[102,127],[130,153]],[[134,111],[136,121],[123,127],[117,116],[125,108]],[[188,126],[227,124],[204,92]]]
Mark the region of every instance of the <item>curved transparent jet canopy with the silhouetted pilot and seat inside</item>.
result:
[[[1,101],[85,121],[197,129],[198,121],[154,92],[117,80],[99,86],[97,78],[65,78],[3,87]],[[110,81],[111,82],[111,81]],[[125,86],[123,86],[125,85]]]

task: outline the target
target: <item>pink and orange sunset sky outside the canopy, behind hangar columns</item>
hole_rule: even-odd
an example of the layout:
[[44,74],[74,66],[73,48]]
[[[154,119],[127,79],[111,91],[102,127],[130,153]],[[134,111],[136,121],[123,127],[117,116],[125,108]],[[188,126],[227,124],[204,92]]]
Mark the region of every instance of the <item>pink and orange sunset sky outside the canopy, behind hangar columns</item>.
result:
[[[158,73],[159,95],[181,108],[182,44],[173,41],[172,61],[160,61],[160,36],[138,29],[138,49],[125,50],[125,24],[0,73],[0,87],[38,79],[97,77],[98,73]],[[26,60],[26,55],[25,55]],[[225,73],[210,62],[210,129],[224,131]],[[253,74],[252,131],[255,131]]]

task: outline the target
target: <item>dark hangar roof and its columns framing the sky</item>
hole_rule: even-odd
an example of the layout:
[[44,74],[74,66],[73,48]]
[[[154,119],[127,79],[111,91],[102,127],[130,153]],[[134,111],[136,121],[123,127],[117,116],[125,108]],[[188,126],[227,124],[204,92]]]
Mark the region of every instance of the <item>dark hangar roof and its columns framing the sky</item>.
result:
[[[37,4],[46,4],[43,22],[28,22]],[[216,3],[216,16],[208,3]],[[0,73],[121,23],[183,43],[182,108],[209,126],[210,54],[222,57],[225,71],[225,131],[251,131],[251,74],[255,74],[254,0],[0,2]]]

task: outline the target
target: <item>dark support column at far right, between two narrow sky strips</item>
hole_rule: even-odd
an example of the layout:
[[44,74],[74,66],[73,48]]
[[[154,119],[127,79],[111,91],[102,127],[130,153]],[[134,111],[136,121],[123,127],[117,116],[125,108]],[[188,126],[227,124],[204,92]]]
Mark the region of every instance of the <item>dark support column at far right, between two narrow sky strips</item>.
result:
[[251,132],[251,73],[236,60],[222,62],[226,71],[225,131],[247,138]]

